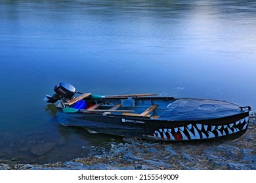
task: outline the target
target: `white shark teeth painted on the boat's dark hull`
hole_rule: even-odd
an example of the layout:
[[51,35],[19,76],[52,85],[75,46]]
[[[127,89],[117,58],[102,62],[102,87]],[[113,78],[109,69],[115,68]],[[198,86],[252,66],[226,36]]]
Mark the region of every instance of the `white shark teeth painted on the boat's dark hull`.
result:
[[152,133],[154,137],[166,140],[198,140],[198,139],[215,139],[216,137],[223,137],[238,133],[247,128],[249,117],[236,120],[235,122],[223,125],[209,125],[209,124],[186,124],[176,127],[163,127],[157,129]]

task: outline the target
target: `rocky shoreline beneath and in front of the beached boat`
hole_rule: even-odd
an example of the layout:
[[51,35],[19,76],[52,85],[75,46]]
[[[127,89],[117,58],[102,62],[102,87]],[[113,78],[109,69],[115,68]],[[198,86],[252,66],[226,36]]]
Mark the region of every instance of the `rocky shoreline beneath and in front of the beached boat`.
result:
[[154,142],[123,138],[110,150],[92,147],[88,158],[44,165],[0,160],[0,170],[255,170],[256,114],[246,133],[233,141]]

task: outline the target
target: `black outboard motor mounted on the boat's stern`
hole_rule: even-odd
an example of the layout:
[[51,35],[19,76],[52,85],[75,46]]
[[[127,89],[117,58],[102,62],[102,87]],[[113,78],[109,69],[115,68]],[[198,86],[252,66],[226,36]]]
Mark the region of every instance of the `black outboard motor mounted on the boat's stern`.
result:
[[46,95],[46,97],[43,99],[47,103],[56,103],[56,101],[59,101],[61,99],[70,100],[74,97],[75,93],[75,87],[71,84],[61,82],[60,84],[57,84],[53,88],[54,95]]

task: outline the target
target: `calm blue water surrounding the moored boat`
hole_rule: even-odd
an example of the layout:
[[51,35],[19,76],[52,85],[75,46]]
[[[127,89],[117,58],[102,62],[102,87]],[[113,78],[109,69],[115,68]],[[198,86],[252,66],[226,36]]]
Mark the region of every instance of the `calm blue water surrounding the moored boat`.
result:
[[1,1],[0,159],[87,156],[119,137],[51,119],[68,82],[102,95],[159,93],[256,110],[255,1]]

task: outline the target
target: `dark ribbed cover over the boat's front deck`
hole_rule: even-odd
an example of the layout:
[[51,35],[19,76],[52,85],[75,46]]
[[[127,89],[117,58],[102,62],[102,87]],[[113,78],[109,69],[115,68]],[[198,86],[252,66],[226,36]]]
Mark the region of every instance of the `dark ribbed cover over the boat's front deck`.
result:
[[210,120],[244,114],[250,107],[211,99],[177,99],[167,106],[161,119],[167,120]]

